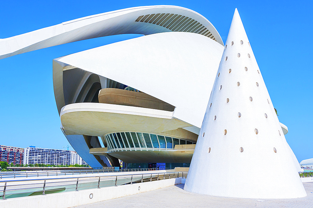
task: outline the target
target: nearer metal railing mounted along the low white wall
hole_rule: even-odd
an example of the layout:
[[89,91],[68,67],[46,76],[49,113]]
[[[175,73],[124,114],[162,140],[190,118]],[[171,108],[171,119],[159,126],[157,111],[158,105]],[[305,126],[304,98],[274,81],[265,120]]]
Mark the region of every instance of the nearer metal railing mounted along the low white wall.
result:
[[137,173],[113,176],[83,176],[7,180],[0,182],[0,199],[23,196],[47,195],[64,191],[81,191],[92,188],[121,186],[126,184],[159,181],[170,178],[186,178],[188,172]]

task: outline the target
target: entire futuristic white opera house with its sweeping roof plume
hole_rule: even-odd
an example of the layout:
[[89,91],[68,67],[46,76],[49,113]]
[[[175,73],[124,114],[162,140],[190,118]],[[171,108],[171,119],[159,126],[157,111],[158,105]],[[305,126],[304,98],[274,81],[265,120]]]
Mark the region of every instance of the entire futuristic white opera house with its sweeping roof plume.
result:
[[53,60],[61,130],[91,167],[189,164],[224,49],[201,14],[161,5],[82,17],[0,39],[0,59],[117,34],[145,36]]

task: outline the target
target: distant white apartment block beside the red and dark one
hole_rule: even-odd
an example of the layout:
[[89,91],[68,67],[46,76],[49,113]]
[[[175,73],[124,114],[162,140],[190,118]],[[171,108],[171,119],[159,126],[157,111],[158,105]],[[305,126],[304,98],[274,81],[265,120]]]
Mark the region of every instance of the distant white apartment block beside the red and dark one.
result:
[[24,149],[23,164],[86,165],[74,151],[28,147]]

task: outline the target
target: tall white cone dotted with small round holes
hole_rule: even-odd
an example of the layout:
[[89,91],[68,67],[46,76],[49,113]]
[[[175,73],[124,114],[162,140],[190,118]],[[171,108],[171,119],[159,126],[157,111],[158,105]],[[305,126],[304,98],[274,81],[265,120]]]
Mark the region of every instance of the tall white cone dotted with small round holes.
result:
[[184,190],[306,196],[291,152],[236,9]]

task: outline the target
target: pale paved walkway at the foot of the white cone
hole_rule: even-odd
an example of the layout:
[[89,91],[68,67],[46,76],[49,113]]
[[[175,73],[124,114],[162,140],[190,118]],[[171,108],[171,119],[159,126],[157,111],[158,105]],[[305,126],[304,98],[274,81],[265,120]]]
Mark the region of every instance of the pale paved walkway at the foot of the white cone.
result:
[[307,196],[298,199],[242,199],[194,194],[184,184],[76,207],[313,207],[313,182],[303,183]]

